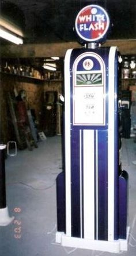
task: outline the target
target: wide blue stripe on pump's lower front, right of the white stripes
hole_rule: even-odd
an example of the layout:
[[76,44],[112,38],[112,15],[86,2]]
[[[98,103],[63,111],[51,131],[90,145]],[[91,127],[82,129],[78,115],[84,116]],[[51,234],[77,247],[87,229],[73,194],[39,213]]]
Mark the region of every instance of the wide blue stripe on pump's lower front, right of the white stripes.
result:
[[98,239],[108,240],[108,131],[98,131]]

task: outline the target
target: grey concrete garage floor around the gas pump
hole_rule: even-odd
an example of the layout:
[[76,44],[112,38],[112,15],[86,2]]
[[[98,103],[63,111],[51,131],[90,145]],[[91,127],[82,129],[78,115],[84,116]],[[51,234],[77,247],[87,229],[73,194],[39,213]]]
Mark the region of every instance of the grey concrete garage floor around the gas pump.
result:
[[[56,176],[62,171],[61,137],[38,143],[38,149],[18,151],[7,157],[7,206],[14,221],[0,226],[0,255],[3,256],[110,256],[101,251],[66,248],[55,244]],[[123,139],[122,167],[129,172],[129,248],[120,252],[136,255],[136,143]]]

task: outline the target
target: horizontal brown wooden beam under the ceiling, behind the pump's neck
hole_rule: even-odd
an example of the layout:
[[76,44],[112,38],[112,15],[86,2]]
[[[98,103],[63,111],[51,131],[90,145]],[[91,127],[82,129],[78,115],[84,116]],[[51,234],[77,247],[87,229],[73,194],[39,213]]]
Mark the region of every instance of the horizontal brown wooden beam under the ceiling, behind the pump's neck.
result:
[[[136,54],[136,39],[107,40],[103,47],[118,46],[122,55]],[[78,42],[61,42],[52,44],[24,44],[1,46],[1,57],[50,57],[65,56],[67,49],[81,48]]]

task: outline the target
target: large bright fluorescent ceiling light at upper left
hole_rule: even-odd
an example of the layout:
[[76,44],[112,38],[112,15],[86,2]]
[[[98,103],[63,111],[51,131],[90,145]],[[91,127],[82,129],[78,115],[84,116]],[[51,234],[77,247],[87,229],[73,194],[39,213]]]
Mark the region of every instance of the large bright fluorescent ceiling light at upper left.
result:
[[13,42],[14,44],[20,45],[23,44],[22,38],[17,37],[16,35],[13,35],[9,31],[6,31],[4,28],[0,27],[0,37]]

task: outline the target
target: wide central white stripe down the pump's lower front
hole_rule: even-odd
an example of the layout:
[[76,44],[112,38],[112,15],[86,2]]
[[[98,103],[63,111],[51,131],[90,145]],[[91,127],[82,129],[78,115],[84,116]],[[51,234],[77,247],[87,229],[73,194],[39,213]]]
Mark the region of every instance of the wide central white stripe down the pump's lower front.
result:
[[84,237],[95,239],[94,130],[84,130]]

